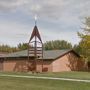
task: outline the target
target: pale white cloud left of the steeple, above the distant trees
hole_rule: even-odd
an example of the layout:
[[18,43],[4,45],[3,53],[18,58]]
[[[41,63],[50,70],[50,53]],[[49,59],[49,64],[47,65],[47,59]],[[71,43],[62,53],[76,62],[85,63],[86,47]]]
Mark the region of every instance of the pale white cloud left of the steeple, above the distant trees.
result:
[[12,21],[0,21],[0,43],[16,46],[28,42],[32,30],[29,26]]

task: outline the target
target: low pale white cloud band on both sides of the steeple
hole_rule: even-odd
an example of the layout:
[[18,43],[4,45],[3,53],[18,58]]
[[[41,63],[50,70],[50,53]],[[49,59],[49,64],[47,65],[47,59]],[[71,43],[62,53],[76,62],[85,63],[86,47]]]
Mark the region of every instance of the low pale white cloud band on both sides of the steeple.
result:
[[[33,27],[18,22],[0,21],[0,43],[16,46],[20,42],[28,42],[32,29]],[[67,40],[68,42],[75,44],[79,41],[75,32],[65,32],[63,30],[57,30],[58,32],[54,32],[40,27],[39,31],[44,42],[58,39]]]

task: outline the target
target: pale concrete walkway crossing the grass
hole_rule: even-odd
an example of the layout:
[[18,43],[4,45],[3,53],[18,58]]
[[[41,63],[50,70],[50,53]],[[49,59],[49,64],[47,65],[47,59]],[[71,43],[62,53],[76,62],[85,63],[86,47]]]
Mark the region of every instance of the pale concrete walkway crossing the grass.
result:
[[2,76],[2,77],[17,77],[17,78],[48,79],[48,80],[64,80],[64,81],[90,83],[90,80],[70,79],[70,78],[37,77],[37,76],[21,76],[21,75],[6,75],[6,74],[1,74],[0,76]]

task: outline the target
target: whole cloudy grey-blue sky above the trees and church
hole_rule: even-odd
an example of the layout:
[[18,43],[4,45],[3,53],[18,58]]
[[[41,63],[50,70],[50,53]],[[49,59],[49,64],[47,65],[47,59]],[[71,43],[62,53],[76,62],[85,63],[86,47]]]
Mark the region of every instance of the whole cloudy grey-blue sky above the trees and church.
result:
[[78,44],[90,0],[0,0],[0,44],[27,43],[35,25],[43,42],[66,40]]

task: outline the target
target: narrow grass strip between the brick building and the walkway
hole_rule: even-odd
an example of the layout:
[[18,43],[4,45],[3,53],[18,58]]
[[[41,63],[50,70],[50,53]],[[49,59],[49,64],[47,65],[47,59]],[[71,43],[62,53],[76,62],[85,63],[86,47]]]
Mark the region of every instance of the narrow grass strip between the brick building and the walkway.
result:
[[0,74],[10,74],[10,75],[24,75],[24,76],[44,76],[44,77],[60,77],[60,78],[74,78],[74,79],[85,79],[90,80],[89,72],[61,72],[61,73],[15,73],[15,72],[1,72]]

